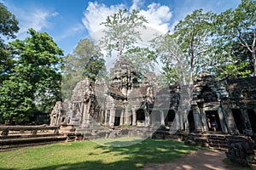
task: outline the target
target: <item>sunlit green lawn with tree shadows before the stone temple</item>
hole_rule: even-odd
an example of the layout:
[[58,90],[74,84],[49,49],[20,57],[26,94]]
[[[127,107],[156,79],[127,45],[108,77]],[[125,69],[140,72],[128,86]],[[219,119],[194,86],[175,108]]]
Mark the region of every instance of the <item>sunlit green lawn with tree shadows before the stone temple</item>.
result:
[[[133,142],[133,145],[129,145]],[[139,169],[148,162],[180,158],[197,147],[175,140],[108,139],[49,144],[0,152],[3,169]],[[126,147],[112,147],[117,145]]]

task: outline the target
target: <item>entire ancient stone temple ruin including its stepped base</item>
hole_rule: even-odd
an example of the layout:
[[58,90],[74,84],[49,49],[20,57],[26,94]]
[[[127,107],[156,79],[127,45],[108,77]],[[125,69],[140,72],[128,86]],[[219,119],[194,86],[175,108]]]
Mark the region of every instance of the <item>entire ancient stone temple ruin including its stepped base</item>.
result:
[[[62,131],[80,139],[115,138],[124,132],[130,136],[147,133],[144,137],[152,138],[164,127],[169,135],[189,134],[184,137],[187,143],[193,139],[218,149],[226,149],[227,139],[235,135],[229,140],[234,143],[227,152],[230,160],[248,162],[255,157],[251,150],[246,158],[244,150],[253,147],[247,146],[253,144],[245,141],[247,137],[256,139],[256,77],[218,80],[201,72],[189,87],[191,99],[186,99],[189,94],[183,94],[183,89],[178,85],[162,88],[153,73],[139,74],[131,62],[120,59],[108,81],[85,78],[78,82],[71,99],[56,103],[50,125],[61,125]],[[119,128],[121,132],[108,131]],[[250,162],[256,161],[254,157]]]

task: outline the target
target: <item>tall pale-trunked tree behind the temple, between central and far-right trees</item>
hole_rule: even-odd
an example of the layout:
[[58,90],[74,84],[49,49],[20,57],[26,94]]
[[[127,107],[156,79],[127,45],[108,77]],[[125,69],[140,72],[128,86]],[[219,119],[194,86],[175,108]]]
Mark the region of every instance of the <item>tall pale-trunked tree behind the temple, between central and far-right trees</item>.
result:
[[211,51],[212,16],[212,12],[195,10],[177,23],[173,33],[154,38],[153,46],[166,63],[166,75],[182,76],[183,80],[176,81],[192,84],[195,73],[206,67],[206,56]]

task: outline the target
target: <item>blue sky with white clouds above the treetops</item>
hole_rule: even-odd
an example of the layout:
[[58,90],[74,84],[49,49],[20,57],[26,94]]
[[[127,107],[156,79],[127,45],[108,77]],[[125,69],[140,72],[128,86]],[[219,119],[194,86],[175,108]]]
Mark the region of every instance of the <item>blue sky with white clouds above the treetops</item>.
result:
[[19,20],[19,39],[28,35],[28,28],[49,33],[64,54],[71,54],[80,39],[96,39],[99,25],[119,8],[138,9],[148,19],[148,27],[165,33],[172,30],[178,20],[193,10],[220,13],[227,8],[236,8],[240,0],[0,0]]

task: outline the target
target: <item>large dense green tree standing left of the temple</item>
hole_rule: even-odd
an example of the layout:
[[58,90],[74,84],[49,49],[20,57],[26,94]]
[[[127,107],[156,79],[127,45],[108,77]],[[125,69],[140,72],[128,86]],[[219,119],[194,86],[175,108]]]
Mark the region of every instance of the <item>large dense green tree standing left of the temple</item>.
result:
[[38,108],[50,111],[61,99],[62,50],[46,32],[28,33],[24,41],[9,43],[16,63],[0,89],[0,114],[7,122],[26,121]]

